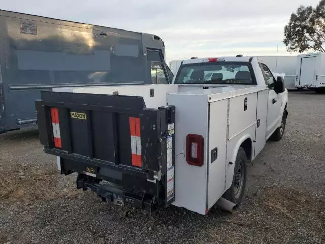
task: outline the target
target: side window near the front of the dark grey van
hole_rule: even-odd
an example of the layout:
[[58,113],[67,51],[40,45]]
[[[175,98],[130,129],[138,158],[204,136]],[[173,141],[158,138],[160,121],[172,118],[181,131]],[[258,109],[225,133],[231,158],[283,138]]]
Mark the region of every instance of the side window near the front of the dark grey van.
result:
[[168,78],[164,72],[163,62],[158,51],[147,52],[148,70],[150,71],[151,84],[167,84]]

